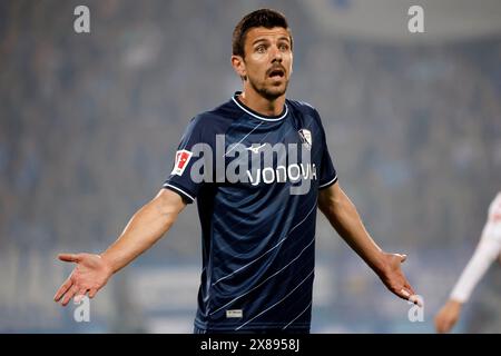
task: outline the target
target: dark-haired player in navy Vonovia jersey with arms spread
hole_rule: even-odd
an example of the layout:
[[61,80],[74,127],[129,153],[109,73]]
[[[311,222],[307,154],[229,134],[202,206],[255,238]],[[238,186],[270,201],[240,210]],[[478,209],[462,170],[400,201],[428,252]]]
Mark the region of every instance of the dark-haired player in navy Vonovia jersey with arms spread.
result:
[[232,66],[243,91],[191,119],[163,189],[117,241],[100,255],[59,256],[77,266],[56,301],[94,297],[195,200],[204,267],[194,333],[310,333],[317,208],[391,291],[413,300],[406,257],[374,243],[341,188],[318,112],[285,98],[293,68],[285,17],[245,16]]

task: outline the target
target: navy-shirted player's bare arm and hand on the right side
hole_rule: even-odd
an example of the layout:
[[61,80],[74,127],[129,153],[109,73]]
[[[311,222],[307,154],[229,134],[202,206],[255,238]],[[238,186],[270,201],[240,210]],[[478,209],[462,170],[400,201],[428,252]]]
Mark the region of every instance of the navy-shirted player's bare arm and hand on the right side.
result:
[[402,273],[405,255],[385,253],[365,229],[355,206],[338,182],[321,189],[318,208],[350,247],[374,270],[395,295],[419,304],[415,291]]

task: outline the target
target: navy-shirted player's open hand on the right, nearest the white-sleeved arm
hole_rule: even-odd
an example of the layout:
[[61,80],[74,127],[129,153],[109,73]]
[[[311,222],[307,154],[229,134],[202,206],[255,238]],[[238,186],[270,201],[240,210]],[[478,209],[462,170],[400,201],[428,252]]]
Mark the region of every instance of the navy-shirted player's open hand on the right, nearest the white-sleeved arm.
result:
[[410,300],[422,307],[421,300],[416,293],[405,278],[401,265],[407,258],[406,255],[401,254],[384,254],[384,268],[379,274],[381,280],[387,289],[397,295],[402,299]]

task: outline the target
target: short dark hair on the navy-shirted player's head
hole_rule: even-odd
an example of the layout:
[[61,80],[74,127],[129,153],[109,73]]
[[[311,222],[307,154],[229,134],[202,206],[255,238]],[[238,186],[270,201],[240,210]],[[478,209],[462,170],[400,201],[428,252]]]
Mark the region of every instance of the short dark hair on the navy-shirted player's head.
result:
[[291,37],[291,48],[292,48],[292,33],[288,28],[287,19],[285,16],[278,11],[272,9],[259,9],[246,14],[235,27],[233,31],[233,55],[244,57],[245,51],[245,36],[247,32],[256,27],[264,27],[266,29],[272,29],[274,27],[282,27],[288,31]]

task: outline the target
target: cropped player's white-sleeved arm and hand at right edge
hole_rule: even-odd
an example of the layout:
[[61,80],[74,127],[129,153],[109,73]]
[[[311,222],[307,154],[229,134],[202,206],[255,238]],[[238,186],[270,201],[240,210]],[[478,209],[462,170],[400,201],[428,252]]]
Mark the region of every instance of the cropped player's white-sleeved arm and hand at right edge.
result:
[[452,289],[449,300],[436,314],[438,333],[449,333],[458,323],[463,304],[497,258],[500,258],[501,263],[501,191],[489,207],[488,220],[473,256]]

